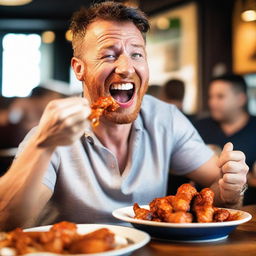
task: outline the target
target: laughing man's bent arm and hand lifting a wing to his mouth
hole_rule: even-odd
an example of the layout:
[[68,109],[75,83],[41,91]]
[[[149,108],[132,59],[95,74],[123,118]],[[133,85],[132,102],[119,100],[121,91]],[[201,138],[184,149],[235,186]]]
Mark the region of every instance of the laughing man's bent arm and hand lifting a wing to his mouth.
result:
[[45,109],[35,134],[0,178],[0,229],[32,225],[52,192],[42,180],[56,147],[70,145],[88,126],[88,102],[55,100]]

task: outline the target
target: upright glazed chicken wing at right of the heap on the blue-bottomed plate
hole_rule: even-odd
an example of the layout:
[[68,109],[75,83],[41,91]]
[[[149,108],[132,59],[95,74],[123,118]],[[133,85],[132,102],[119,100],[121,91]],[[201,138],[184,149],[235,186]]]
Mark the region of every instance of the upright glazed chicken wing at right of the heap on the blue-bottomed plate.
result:
[[212,222],[214,192],[210,188],[204,188],[195,196],[193,202],[193,211],[195,212],[197,222]]

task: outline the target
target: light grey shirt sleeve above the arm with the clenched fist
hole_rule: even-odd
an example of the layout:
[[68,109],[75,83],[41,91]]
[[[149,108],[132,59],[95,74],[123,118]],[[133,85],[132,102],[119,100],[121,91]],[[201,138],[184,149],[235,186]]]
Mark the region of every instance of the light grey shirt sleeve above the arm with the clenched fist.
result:
[[185,175],[203,165],[213,155],[191,122],[175,108],[173,114],[174,147],[171,155],[173,174]]

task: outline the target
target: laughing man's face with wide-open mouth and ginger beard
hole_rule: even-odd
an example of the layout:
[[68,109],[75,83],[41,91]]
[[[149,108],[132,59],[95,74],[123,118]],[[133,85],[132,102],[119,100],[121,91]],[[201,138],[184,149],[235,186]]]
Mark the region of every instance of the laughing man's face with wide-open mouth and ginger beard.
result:
[[108,112],[107,120],[120,124],[134,121],[148,86],[145,41],[137,27],[132,22],[93,22],[80,59],[84,65],[80,80],[89,102],[112,96],[120,108]]

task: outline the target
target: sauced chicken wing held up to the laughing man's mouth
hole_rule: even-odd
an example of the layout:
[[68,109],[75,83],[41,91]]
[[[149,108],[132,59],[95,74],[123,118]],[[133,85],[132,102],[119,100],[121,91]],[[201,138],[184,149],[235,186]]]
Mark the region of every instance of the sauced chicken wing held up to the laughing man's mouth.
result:
[[111,97],[100,97],[95,103],[91,105],[92,112],[88,119],[92,121],[92,126],[96,127],[99,125],[100,116],[104,114],[105,111],[116,111],[119,105]]

